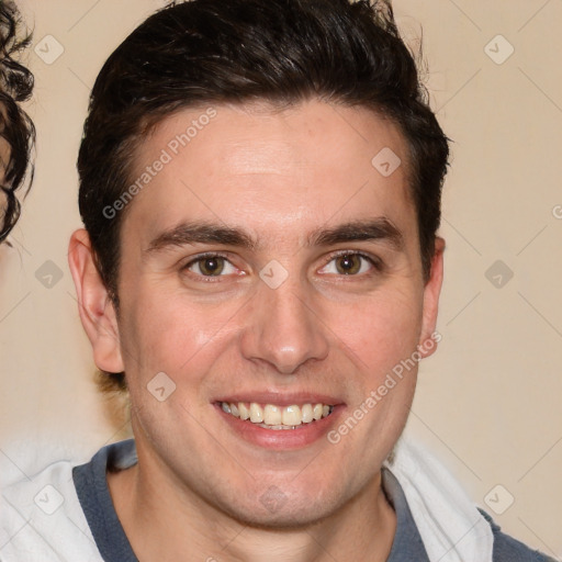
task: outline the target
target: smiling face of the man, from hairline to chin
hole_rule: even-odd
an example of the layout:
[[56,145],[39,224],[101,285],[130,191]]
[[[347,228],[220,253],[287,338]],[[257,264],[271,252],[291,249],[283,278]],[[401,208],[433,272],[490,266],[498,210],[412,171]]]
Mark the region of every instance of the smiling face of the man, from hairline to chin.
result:
[[[372,164],[389,148],[390,176]],[[378,479],[417,366],[380,386],[435,328],[441,254],[424,283],[405,140],[366,109],[218,105],[164,121],[134,180],[147,166],[119,319],[100,312],[116,337],[90,335],[98,367],[126,371],[139,467],[245,522],[342,509]]]

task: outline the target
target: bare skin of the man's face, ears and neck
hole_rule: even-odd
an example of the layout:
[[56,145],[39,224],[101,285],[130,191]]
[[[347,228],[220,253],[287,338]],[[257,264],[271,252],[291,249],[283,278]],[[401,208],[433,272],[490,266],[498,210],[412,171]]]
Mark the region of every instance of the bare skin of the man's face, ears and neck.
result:
[[[434,333],[443,241],[425,283],[406,145],[389,121],[317,100],[283,111],[215,109],[126,210],[119,317],[86,232],[70,241],[95,363],[126,371],[131,392],[139,462],[108,474],[117,515],[140,561],[384,561],[396,521],[381,465],[406,423],[416,369],[337,445],[323,437],[291,450],[260,447],[213,402],[235,392],[328,394],[342,404],[337,427]],[[202,113],[160,123],[138,149],[137,171]],[[384,147],[403,162],[387,178],[371,165]],[[317,229],[382,217],[400,244],[307,244]],[[193,221],[241,229],[255,247],[149,250]],[[340,250],[382,267],[351,258],[357,268],[344,274]],[[207,251],[228,258],[211,281],[193,262]],[[271,260],[289,274],[276,290],[259,277]],[[147,391],[158,372],[176,384],[164,402]],[[271,490],[283,498],[272,510],[260,501]]]

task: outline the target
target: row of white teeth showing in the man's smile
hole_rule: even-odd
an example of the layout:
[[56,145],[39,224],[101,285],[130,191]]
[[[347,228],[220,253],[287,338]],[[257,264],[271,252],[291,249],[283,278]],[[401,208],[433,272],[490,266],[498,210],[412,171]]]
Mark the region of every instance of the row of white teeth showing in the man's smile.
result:
[[274,404],[258,404],[256,402],[228,403],[220,402],[223,412],[249,422],[265,429],[296,429],[300,426],[314,424],[328,417],[334,406],[328,404],[293,404],[291,406],[276,406]]

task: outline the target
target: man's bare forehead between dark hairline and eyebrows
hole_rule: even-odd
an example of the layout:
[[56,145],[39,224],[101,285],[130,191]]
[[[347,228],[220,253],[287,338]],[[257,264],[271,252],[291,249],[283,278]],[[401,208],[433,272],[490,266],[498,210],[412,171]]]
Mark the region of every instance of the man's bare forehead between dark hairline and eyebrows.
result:
[[139,144],[132,181],[143,177],[124,231],[143,225],[135,232],[145,239],[202,218],[271,238],[373,215],[415,229],[406,143],[367,109],[308,101],[183,110]]

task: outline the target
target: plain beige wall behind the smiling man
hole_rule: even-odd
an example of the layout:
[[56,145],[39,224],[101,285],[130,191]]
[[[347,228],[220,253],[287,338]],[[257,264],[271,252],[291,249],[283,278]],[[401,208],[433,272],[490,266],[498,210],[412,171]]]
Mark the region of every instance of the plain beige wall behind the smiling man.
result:
[[[36,181],[13,248],[0,249],[0,470],[14,476],[68,451],[86,459],[127,430],[92,383],[66,252],[79,226],[75,161],[89,90],[162,2],[20,5],[38,53],[53,56],[55,40],[64,53],[52,64],[30,53]],[[412,41],[423,27],[431,103],[454,140],[442,341],[422,366],[409,428],[504,530],[562,555],[562,2],[396,0],[395,11]],[[486,277],[496,260],[514,273],[502,288]],[[497,484],[505,490],[486,506]],[[515,503],[494,514],[507,494]]]

